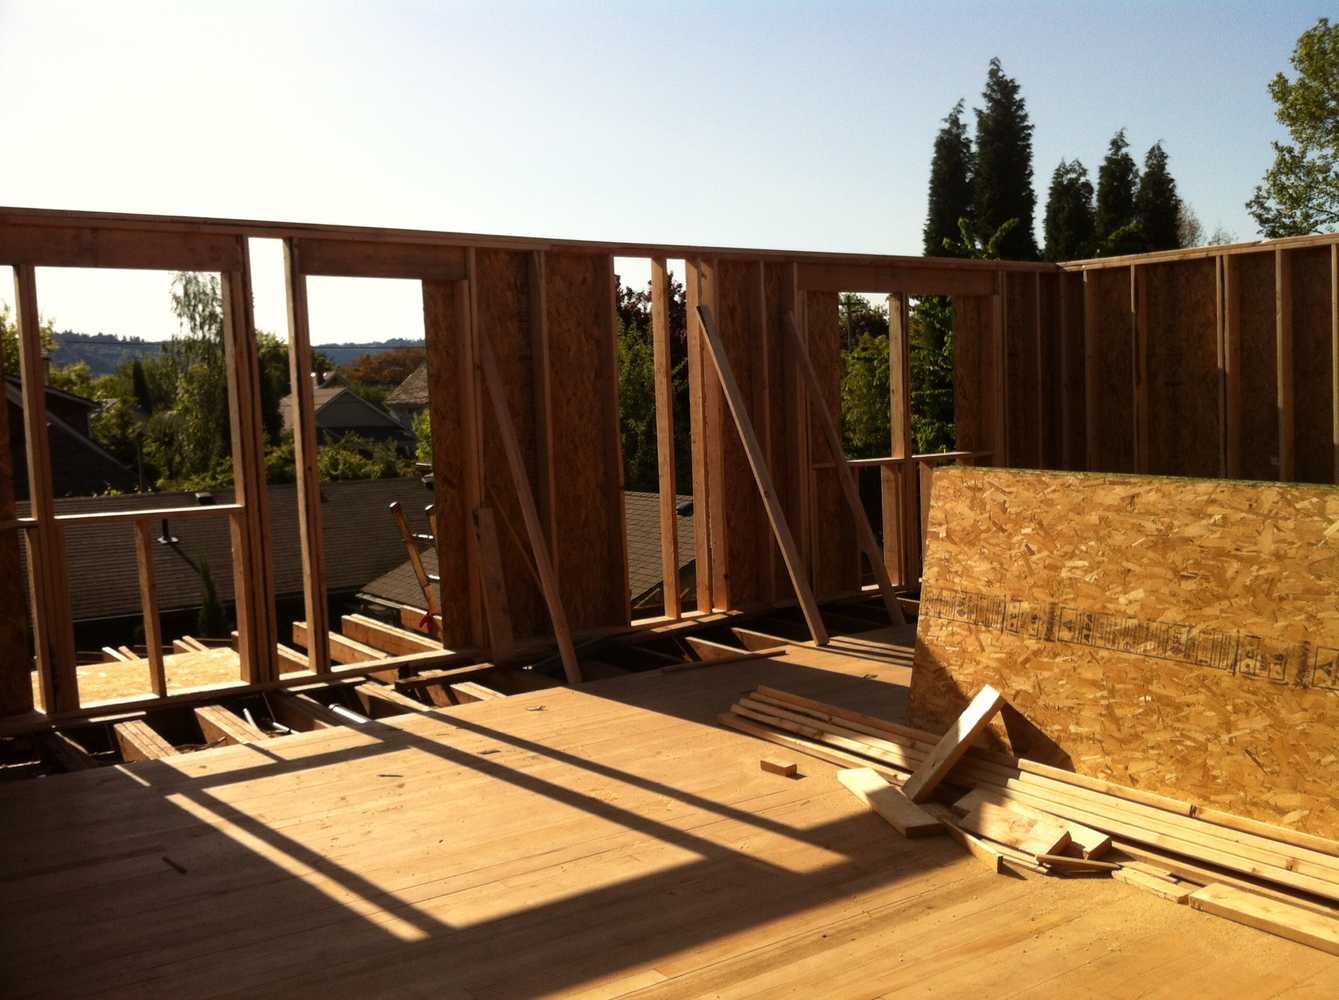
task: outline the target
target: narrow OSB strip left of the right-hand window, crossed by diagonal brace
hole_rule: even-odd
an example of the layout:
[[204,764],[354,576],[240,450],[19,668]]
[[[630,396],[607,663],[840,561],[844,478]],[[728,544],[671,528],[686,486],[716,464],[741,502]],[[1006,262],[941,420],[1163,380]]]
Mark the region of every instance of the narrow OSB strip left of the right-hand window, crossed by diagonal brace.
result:
[[[837,316],[836,292],[806,292],[809,356],[823,390],[822,399],[809,399],[810,407],[826,406],[837,426],[841,426],[841,329]],[[809,454],[815,462],[828,456],[821,438],[817,411],[809,422]],[[823,458],[819,458],[822,455]],[[814,509],[810,527],[810,554],[814,570],[814,592],[819,600],[846,593],[860,586],[857,564],[856,525],[842,497],[834,469],[814,473]]]

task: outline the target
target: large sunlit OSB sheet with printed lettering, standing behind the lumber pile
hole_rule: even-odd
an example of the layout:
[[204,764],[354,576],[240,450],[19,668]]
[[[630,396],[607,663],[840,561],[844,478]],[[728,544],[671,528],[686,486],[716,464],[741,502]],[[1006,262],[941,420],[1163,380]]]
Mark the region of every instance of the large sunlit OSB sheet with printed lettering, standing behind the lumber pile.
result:
[[1339,834],[1339,489],[935,477],[911,715],[983,684],[1022,755]]

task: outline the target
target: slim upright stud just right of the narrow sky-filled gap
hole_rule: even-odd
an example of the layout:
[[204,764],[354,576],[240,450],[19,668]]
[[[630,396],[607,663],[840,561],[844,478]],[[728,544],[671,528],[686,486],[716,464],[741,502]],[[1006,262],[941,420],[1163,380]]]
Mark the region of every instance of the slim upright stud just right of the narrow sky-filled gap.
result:
[[313,641],[307,647],[315,673],[329,669],[325,597],[325,531],[321,526],[321,474],[316,452],[316,404],[312,388],[312,341],[307,315],[307,277],[297,242],[284,242],[288,288],[288,359],[292,386],[293,461],[297,469],[297,530],[303,554],[303,601]]

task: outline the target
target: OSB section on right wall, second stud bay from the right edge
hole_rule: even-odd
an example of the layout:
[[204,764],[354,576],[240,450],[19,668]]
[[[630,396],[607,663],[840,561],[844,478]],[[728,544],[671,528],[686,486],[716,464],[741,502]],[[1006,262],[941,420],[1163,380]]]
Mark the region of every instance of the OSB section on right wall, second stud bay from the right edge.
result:
[[1279,478],[1279,383],[1273,253],[1228,258],[1241,336],[1241,477]]

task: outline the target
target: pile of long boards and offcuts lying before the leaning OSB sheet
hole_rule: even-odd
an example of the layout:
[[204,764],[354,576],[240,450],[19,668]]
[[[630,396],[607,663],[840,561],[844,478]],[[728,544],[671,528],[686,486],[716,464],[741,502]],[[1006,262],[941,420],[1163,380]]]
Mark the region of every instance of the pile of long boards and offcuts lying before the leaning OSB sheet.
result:
[[[761,685],[720,722],[849,768],[842,784],[900,830],[889,801],[998,871],[1111,876],[1339,953],[1339,842],[973,748],[999,704],[984,689],[936,736]],[[870,798],[878,786],[884,807]]]

